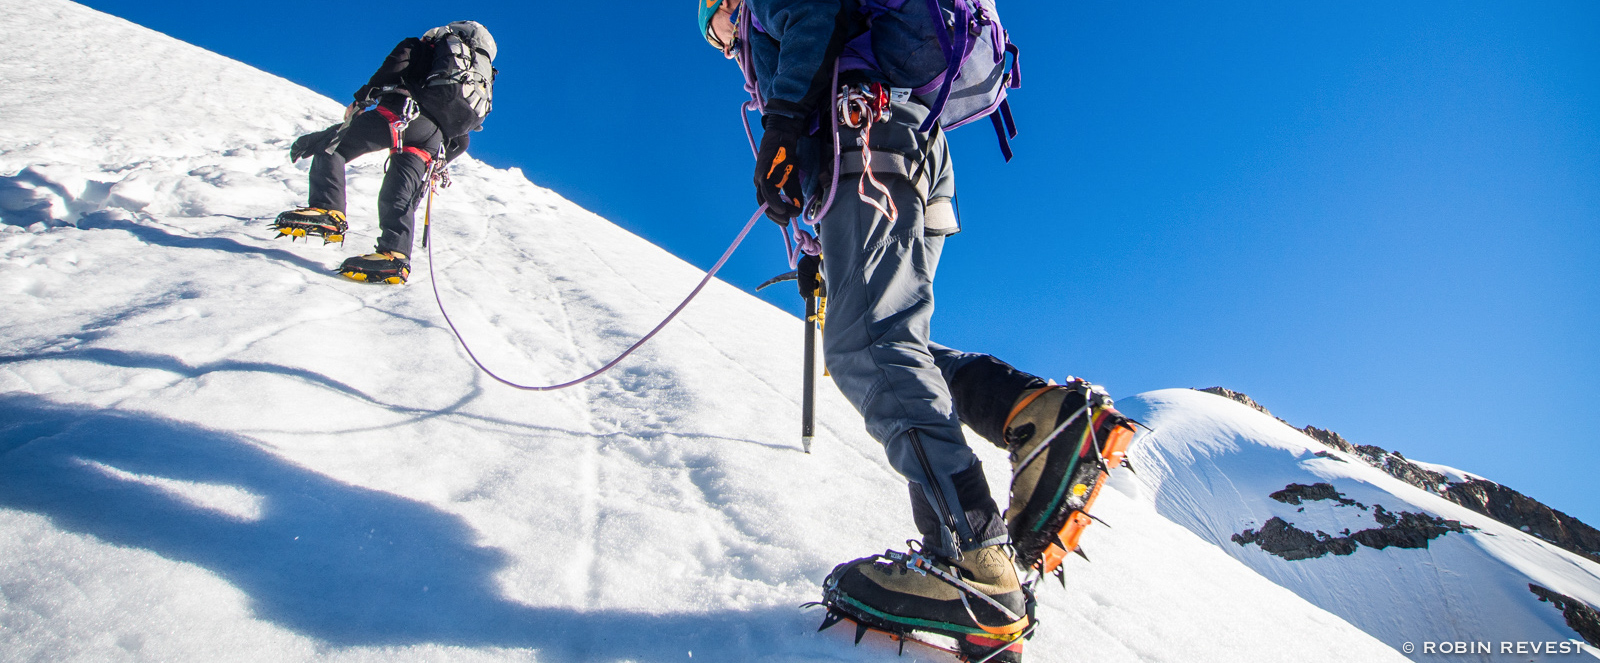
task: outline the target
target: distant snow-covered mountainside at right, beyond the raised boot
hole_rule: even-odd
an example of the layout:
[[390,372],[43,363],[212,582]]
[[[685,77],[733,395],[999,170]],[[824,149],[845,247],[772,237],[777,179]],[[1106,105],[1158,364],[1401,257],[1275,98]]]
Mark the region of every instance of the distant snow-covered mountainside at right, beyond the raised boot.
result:
[[[1390,477],[1250,407],[1190,389],[1139,394],[1118,405],[1155,429],[1141,437],[1133,464],[1162,516],[1390,645],[1494,642],[1498,653],[1499,642],[1578,639],[1562,612],[1539,602],[1530,583],[1600,605],[1600,564]],[[1272,498],[1291,484],[1328,484],[1354,503]],[[1274,517],[1328,538],[1381,528],[1378,506],[1467,527],[1430,540],[1427,548],[1357,544],[1349,554],[1293,561],[1259,543],[1235,541]],[[1430,660],[1418,653],[1418,660]]]

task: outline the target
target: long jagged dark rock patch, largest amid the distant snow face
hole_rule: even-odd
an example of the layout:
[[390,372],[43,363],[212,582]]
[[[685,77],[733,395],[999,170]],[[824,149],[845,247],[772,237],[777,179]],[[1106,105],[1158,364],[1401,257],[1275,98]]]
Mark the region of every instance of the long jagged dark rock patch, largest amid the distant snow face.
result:
[[1414,514],[1410,511],[1390,514],[1378,504],[1373,506],[1373,517],[1376,517],[1382,527],[1373,527],[1355,533],[1350,533],[1350,530],[1346,528],[1342,536],[1328,536],[1325,532],[1306,532],[1282,517],[1274,516],[1261,525],[1259,530],[1245,530],[1230,538],[1240,546],[1254,543],[1261,546],[1262,551],[1293,562],[1299,559],[1317,559],[1330,552],[1352,554],[1358,548],[1357,544],[1376,549],[1389,546],[1427,548],[1427,543],[1438,536],[1450,532],[1464,533],[1472,528],[1470,525],[1462,525],[1459,520],[1446,520],[1430,514]]

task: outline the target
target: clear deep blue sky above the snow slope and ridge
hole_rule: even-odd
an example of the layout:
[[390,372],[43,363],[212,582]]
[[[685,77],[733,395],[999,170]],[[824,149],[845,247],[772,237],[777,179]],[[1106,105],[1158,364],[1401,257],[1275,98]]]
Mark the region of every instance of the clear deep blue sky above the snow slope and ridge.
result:
[[[702,267],[754,207],[739,77],[688,2],[86,5],[341,101],[477,19],[501,80],[475,157]],[[941,343],[1114,394],[1222,384],[1600,525],[1600,5],[1002,14],[1022,135],[1003,165],[987,125],[952,133]],[[784,269],[762,227],[725,275]]]

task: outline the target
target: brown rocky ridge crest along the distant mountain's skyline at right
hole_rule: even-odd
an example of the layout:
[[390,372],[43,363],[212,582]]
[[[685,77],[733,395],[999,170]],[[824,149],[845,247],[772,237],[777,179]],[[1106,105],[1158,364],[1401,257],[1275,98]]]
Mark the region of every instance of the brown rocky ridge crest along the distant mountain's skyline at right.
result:
[[[1198,391],[1203,391],[1206,394],[1216,394],[1224,399],[1245,404],[1267,416],[1283,421],[1282,418],[1274,416],[1272,412],[1267,412],[1267,408],[1258,404],[1254,399],[1242,392],[1219,386]],[[1294,428],[1288,421],[1283,421],[1283,424]],[[1330,448],[1336,448],[1339,452],[1360,458],[1363,463],[1382,469],[1384,472],[1387,472],[1395,479],[1400,479],[1418,488],[1427,490],[1434,495],[1438,495],[1456,504],[1466,506],[1483,516],[1493,517],[1507,525],[1517,527],[1555,546],[1560,546],[1570,552],[1600,562],[1600,530],[1595,530],[1594,527],[1589,527],[1582,520],[1578,520],[1576,517],[1552,509],[1544,503],[1530,498],[1517,490],[1512,490],[1509,487],[1504,487],[1501,484],[1486,479],[1450,482],[1446,476],[1426,469],[1406,460],[1403,455],[1400,455],[1400,452],[1389,452],[1382,447],[1373,447],[1373,445],[1357,445],[1344,439],[1344,436],[1339,436],[1338,432],[1315,426],[1294,428],[1294,429],[1304,432],[1307,437],[1322,442]],[[1342,458],[1323,453],[1325,452],[1318,452],[1317,455],[1342,461]]]

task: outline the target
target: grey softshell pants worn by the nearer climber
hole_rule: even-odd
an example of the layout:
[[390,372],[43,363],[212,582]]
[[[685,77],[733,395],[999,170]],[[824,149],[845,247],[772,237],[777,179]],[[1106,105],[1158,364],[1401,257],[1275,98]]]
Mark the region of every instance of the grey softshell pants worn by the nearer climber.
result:
[[[1011,404],[1045,383],[930,340],[939,251],[958,227],[949,144],[942,130],[917,130],[926,115],[917,102],[896,102],[870,131],[872,171],[894,199],[894,221],[859,199],[861,131],[838,127],[838,192],[818,224],[827,283],[822,348],[834,383],[910,482],[923,546],[958,557],[1008,541],[962,421],[1003,447]],[[826,159],[818,159],[824,163],[810,189],[826,195],[832,151],[818,154]],[[866,191],[882,203],[882,192],[870,184]]]

